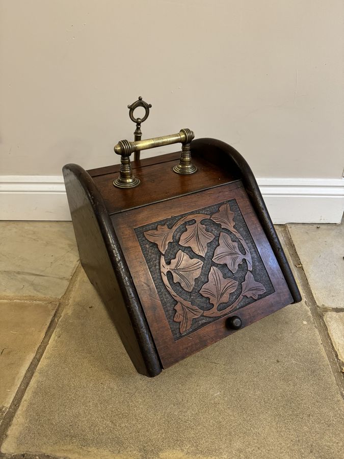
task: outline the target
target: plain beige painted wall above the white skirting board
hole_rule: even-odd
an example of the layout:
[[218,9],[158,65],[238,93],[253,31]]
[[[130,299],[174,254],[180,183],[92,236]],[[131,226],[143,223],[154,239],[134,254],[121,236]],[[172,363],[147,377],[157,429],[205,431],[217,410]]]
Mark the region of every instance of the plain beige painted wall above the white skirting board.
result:
[[144,137],[191,127],[258,177],[339,178],[343,18],[342,0],[2,0],[0,174],[118,162],[142,95]]

